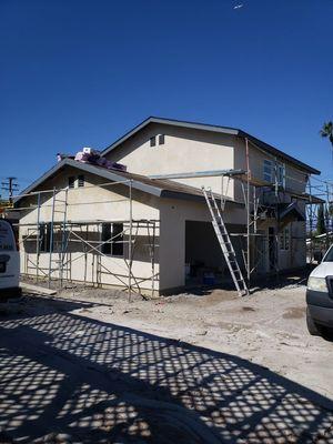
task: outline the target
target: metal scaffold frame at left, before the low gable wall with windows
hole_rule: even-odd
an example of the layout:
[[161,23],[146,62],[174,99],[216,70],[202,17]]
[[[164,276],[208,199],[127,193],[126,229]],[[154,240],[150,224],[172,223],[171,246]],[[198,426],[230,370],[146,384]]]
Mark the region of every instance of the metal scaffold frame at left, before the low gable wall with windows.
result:
[[[36,243],[36,261],[29,258],[29,253],[26,251],[26,265],[24,269],[27,274],[29,270],[33,269],[33,274],[37,279],[47,281],[49,286],[57,282],[58,286],[63,287],[64,282],[72,281],[71,279],[71,265],[74,261],[83,259],[83,284],[84,285],[98,285],[101,286],[104,282],[103,275],[112,275],[119,283],[119,286],[128,291],[129,301],[132,299],[132,294],[142,294],[141,285],[143,282],[150,281],[149,292],[153,296],[157,287],[155,283],[159,280],[159,273],[157,272],[155,263],[155,250],[158,248],[158,231],[160,228],[160,221],[158,219],[133,219],[133,196],[132,196],[132,180],[124,180],[118,182],[107,182],[97,185],[87,185],[87,188],[109,188],[112,185],[125,185],[128,188],[128,196],[124,199],[117,200],[103,200],[100,203],[112,204],[114,202],[128,202],[128,218],[125,220],[110,219],[110,220],[80,220],[71,221],[68,220],[68,212],[70,206],[75,203],[69,203],[68,196],[70,192],[75,192],[79,189],[52,189],[42,190],[38,192],[30,192],[27,194],[20,194],[16,196],[16,200],[21,198],[37,199],[36,204],[29,206],[17,206],[14,211],[36,210],[37,220],[31,223],[19,223],[19,228],[27,228],[28,233],[20,240],[20,243],[32,242]],[[51,195],[51,203],[42,203],[42,196]],[[93,204],[98,202],[92,202]],[[81,203],[80,203],[81,204]],[[51,218],[50,222],[41,219],[41,210],[50,208]],[[57,218],[57,215],[59,215]],[[103,224],[121,224],[122,231],[107,239],[101,239]],[[48,236],[41,236],[42,230],[48,225]],[[89,234],[94,233],[99,235],[98,240],[89,239]],[[151,264],[150,278],[137,276],[133,273],[133,261],[135,260],[135,250],[139,243],[139,236],[147,238],[147,243],[143,244],[148,250],[148,256]],[[42,266],[40,263],[40,255],[42,253],[41,244],[48,244],[47,254],[49,255],[48,266]],[[82,248],[82,254],[72,259],[70,254],[70,246],[73,244],[80,244]],[[102,258],[105,258],[108,262],[112,264],[115,262],[115,258],[111,254],[103,253],[103,245],[109,244],[110,248],[114,244],[123,245],[123,265],[117,262],[117,268],[123,270],[123,274],[114,273],[111,270],[112,265],[105,265]],[[125,245],[128,246],[125,249]],[[142,245],[141,245],[142,246]],[[88,281],[88,260],[89,254],[93,253],[93,261],[91,266],[95,270],[95,281]],[[127,254],[125,254],[127,253]],[[120,256],[117,258],[118,260]],[[91,272],[93,275],[93,272]]]

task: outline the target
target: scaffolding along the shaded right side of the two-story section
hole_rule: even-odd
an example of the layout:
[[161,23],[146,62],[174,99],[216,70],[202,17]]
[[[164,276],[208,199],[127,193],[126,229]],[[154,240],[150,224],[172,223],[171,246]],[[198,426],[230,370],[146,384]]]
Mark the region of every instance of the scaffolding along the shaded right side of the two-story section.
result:
[[[260,147],[251,141],[251,144],[262,151]],[[245,206],[245,232],[232,232],[229,233],[232,238],[240,239],[240,250],[243,260],[243,269],[246,273],[248,289],[251,287],[251,281],[253,274],[258,273],[263,266],[263,261],[268,262],[268,269],[270,274],[279,276],[281,270],[279,264],[279,244],[281,239],[281,232],[285,228],[285,223],[280,218],[281,205],[289,203],[301,203],[304,208],[305,218],[305,233],[304,235],[291,235],[291,243],[296,244],[300,242],[309,242],[309,225],[313,226],[314,213],[317,212],[319,205],[325,206],[325,216],[330,222],[325,222],[326,226],[332,226],[330,236],[332,241],[333,235],[333,186],[327,182],[320,181],[322,186],[321,192],[313,193],[313,186],[311,186],[311,176],[306,175],[305,180],[299,180],[295,176],[286,174],[285,169],[281,176],[279,165],[281,165],[280,159],[276,157],[269,158],[273,163],[273,180],[268,182],[265,180],[259,180],[254,178],[251,172],[250,165],[250,153],[249,153],[250,141],[245,138],[245,170],[216,170],[216,171],[199,171],[192,173],[175,173],[175,174],[163,174],[153,175],[154,179],[190,179],[190,178],[206,178],[206,176],[219,176],[221,178],[221,193],[218,196],[220,205],[225,211],[225,204],[230,200],[228,199],[229,189],[231,181],[236,181],[241,185],[241,201]],[[315,180],[315,178],[314,178]],[[293,182],[293,188],[287,189],[286,182]],[[325,188],[325,192],[323,189]],[[295,191],[297,190],[299,191]],[[319,186],[316,186],[319,189]],[[210,190],[210,189],[208,189]],[[330,190],[330,191],[329,191]],[[325,198],[325,200],[323,200]],[[271,223],[273,230],[266,234],[263,230],[263,225]],[[311,241],[313,245],[313,228],[310,229]],[[244,242],[242,242],[242,239]],[[329,230],[325,235],[325,245],[329,244]],[[295,250],[291,249],[292,251]],[[313,260],[313,258],[312,258]],[[266,273],[266,270],[265,270]],[[236,285],[235,285],[236,286]]]

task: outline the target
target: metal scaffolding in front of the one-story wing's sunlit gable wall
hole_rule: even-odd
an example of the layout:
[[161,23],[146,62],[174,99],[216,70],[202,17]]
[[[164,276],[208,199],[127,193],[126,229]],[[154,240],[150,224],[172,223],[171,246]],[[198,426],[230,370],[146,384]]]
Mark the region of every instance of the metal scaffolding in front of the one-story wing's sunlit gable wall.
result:
[[[144,297],[144,294],[149,292],[154,296],[159,281],[157,250],[159,248],[160,220],[133,218],[131,179],[87,185],[85,189],[107,188],[110,190],[114,185],[128,190],[124,199],[108,199],[101,202],[88,202],[88,204],[112,205],[115,202],[124,202],[128,216],[123,220],[70,220],[71,208],[83,203],[69,202],[69,194],[80,189],[53,188],[52,190],[17,195],[16,201],[23,200],[29,202],[29,205],[16,205],[14,211],[26,212],[27,214],[31,211],[36,212],[36,221],[19,222],[18,224],[20,231],[26,230],[19,241],[20,244],[24,244],[22,274],[33,275],[37,281],[48,282],[49,287],[56,285],[62,289],[64,282],[77,281],[73,279],[72,268],[74,262],[80,262],[83,268],[83,279],[79,281],[83,281],[83,285],[100,287],[108,281],[108,278],[103,278],[112,276],[112,284],[128,291],[129,301],[135,293]],[[46,203],[49,198],[51,202]],[[31,200],[36,202],[33,203]],[[46,209],[50,210],[50,215],[42,218],[42,211],[46,211]],[[110,232],[107,239],[103,238],[102,233],[105,225],[110,228],[117,225],[117,233]],[[119,228],[121,229],[119,230]],[[133,272],[138,245],[143,249],[144,254],[147,253],[149,258],[149,276],[135,275]],[[122,253],[111,254],[112,249],[117,246],[121,246]],[[46,255],[48,256],[47,263]],[[117,284],[114,281],[117,281]],[[149,284],[147,284],[148,282]],[[142,287],[143,283],[145,285]]]

